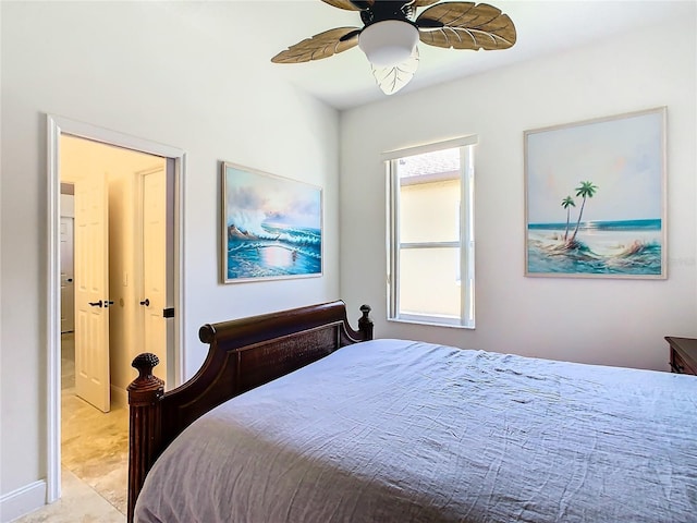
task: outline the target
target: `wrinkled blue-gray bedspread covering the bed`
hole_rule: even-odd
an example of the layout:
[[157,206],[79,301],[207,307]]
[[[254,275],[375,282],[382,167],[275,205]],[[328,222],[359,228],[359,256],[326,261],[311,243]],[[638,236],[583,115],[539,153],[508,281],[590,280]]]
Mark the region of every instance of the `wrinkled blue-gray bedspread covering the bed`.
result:
[[695,522],[697,377],[377,340],[237,397],[139,523]]

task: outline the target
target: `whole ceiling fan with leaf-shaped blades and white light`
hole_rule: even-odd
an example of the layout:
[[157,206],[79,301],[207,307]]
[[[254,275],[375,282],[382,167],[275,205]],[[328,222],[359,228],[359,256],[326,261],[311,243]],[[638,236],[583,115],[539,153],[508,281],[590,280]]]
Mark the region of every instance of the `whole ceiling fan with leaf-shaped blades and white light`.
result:
[[[320,60],[358,46],[367,56],[378,86],[396,93],[414,76],[420,40],[429,46],[494,50],[515,44],[515,26],[487,3],[439,0],[322,0],[358,11],[363,27],[337,27],[306,38],[271,59],[274,63]],[[418,16],[416,9],[427,7]]]

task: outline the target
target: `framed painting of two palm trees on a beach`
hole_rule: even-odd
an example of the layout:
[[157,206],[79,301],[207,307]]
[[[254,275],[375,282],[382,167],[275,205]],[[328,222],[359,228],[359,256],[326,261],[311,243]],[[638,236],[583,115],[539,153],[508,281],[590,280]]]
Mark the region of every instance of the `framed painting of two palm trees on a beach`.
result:
[[524,137],[526,276],[667,278],[664,107]]

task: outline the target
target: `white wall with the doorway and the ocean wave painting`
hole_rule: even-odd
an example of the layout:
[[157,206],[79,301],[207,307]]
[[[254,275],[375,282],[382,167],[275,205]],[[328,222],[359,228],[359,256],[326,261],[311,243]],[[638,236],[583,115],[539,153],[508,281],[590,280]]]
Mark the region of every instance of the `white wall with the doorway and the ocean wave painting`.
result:
[[[337,111],[279,82],[270,62],[247,62],[252,36],[225,23],[241,2],[172,5],[0,3],[0,506],[27,486],[36,499],[47,471],[46,113],[186,151],[187,376],[205,357],[200,325],[339,297]],[[321,278],[220,283],[220,160],[323,187]]]

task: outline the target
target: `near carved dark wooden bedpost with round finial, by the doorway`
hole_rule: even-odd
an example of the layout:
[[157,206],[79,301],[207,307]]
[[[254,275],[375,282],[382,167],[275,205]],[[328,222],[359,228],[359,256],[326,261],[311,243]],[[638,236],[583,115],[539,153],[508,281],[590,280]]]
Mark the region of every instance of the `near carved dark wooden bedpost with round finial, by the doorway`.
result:
[[129,457],[129,523],[133,522],[135,500],[140,492],[147,471],[155,461],[160,447],[160,398],[164,393],[164,381],[152,375],[152,367],[160,361],[155,354],[139,354],[131,364],[139,376],[129,385],[131,438]]

